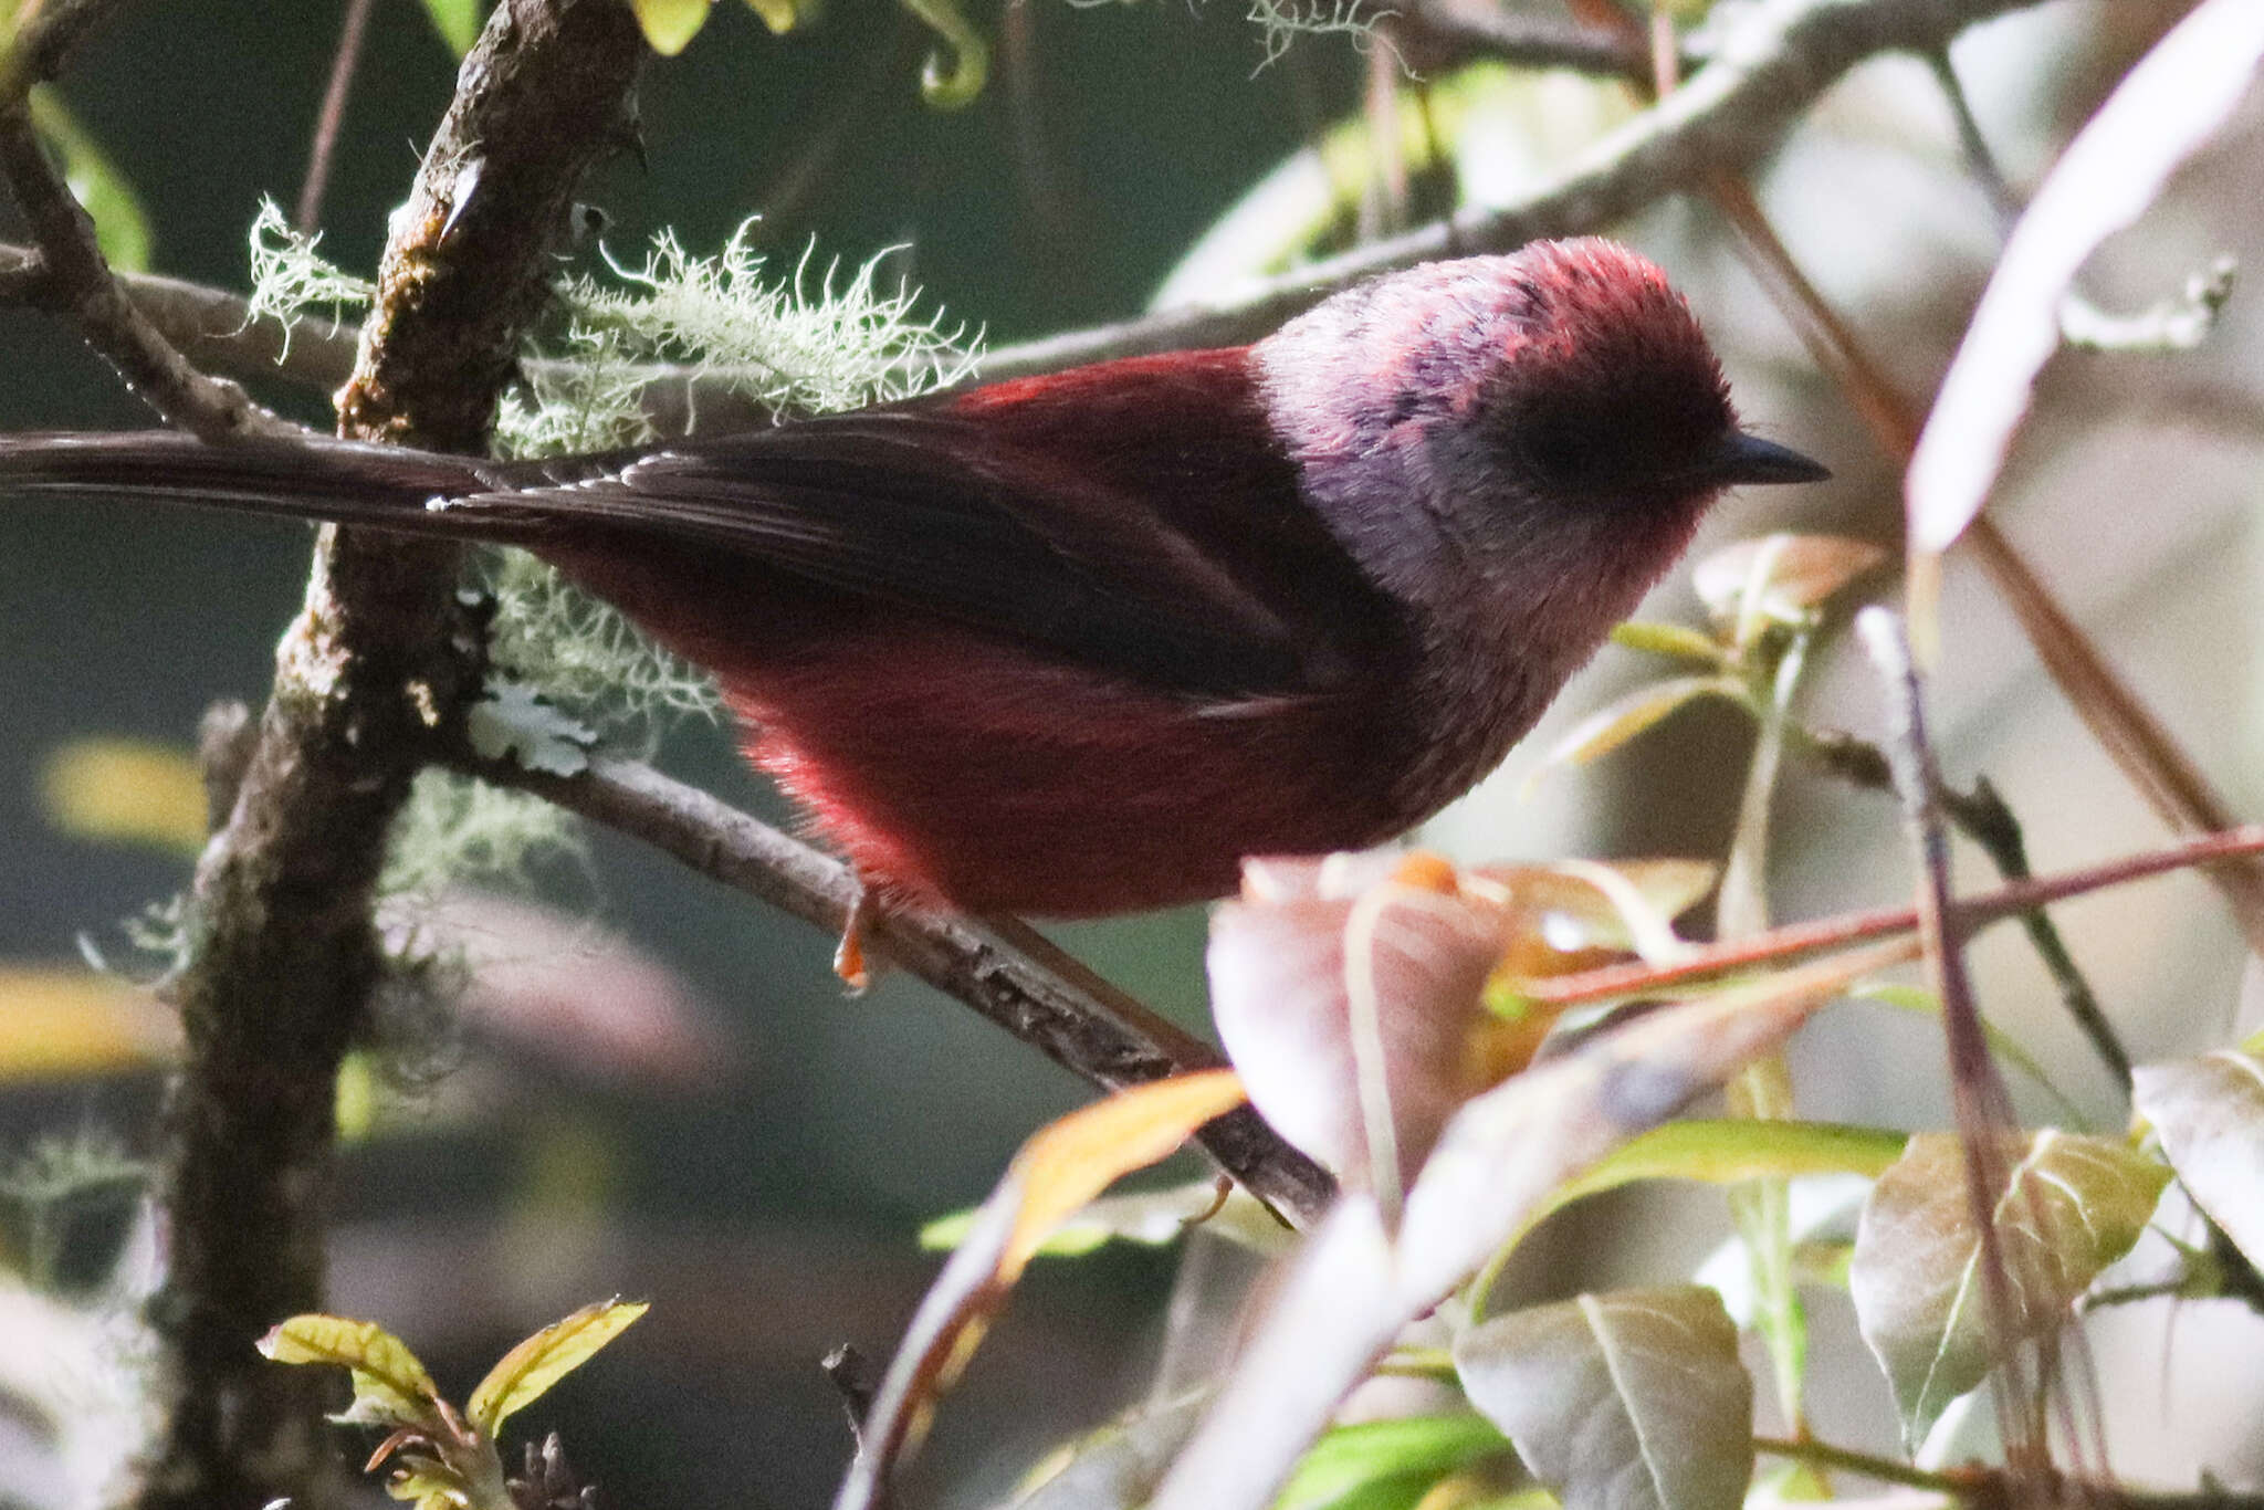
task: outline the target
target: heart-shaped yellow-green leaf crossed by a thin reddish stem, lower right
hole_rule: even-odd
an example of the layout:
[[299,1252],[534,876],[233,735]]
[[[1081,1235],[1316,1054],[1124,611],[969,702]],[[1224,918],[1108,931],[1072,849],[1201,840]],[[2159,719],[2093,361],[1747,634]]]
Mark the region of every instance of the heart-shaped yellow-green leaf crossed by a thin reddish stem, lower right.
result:
[[2010,1139],[2006,1159],[2015,1157],[1992,1202],[2019,1306],[2010,1318],[1988,1315],[1981,1229],[1954,1134],[1913,1136],[1863,1204],[1847,1293],[1913,1449],[1999,1358],[2067,1320],[2099,1270],[2130,1252],[2169,1184],[2162,1164],[2106,1139],[2044,1130]]

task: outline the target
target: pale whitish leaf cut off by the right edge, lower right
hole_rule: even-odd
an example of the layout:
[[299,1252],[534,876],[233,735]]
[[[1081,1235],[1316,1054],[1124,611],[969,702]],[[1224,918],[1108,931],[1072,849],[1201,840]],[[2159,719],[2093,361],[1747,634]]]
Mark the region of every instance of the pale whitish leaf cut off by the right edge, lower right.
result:
[[2219,1048],[2130,1071],[2178,1182],[2253,1266],[2264,1266],[2264,1059]]

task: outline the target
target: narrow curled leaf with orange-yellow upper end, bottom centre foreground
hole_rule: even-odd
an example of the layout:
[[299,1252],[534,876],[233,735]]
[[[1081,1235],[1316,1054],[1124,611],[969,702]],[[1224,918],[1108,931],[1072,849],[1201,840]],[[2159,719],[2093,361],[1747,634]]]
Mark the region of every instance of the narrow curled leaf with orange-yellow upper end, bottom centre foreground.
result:
[[1195,1127],[1243,1100],[1234,1071],[1173,1075],[1071,1112],[1021,1146],[919,1302],[865,1417],[863,1451],[838,1510],[881,1503],[899,1458],[926,1433],[937,1397],[967,1367],[989,1318],[1062,1218],[1118,1175],[1168,1157]]

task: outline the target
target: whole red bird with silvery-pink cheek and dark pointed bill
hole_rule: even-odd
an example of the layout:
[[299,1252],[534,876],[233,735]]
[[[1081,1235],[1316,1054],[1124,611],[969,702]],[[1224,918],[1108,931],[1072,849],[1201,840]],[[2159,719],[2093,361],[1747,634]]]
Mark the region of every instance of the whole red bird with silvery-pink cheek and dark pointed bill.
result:
[[537,460],[0,437],[0,494],[521,546],[715,675],[883,908],[1096,917],[1469,790],[1736,484],[1666,274],[1601,238],[1424,263],[1272,335]]

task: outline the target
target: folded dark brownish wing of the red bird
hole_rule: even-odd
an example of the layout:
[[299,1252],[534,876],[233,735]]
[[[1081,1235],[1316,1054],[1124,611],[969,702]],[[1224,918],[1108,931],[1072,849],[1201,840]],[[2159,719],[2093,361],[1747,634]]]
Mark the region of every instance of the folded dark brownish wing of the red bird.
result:
[[[1152,487],[1064,473],[937,405],[691,441],[618,469],[521,466],[514,491],[446,507],[618,518],[1198,695],[1322,690],[1349,663],[1340,625],[1252,580],[1252,552],[1189,530]],[[1295,487],[1286,471],[1281,487]],[[1293,503],[1266,500],[1275,514]]]

